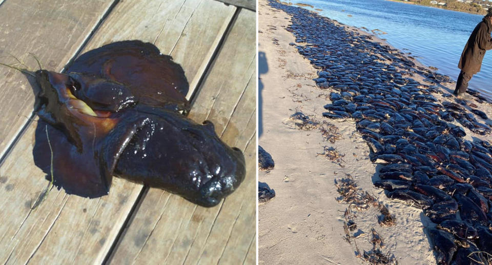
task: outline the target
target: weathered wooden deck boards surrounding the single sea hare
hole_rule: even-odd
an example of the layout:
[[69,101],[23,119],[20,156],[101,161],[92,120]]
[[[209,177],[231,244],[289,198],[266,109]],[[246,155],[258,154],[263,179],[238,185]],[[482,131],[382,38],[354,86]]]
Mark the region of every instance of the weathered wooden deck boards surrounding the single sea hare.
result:
[[[95,199],[46,188],[32,149],[37,116],[27,78],[0,67],[0,264],[254,264],[256,261],[256,14],[214,0],[0,0],[0,55],[34,53],[63,71],[80,53],[126,39],[154,43],[185,70],[189,117],[247,159],[232,195],[203,208],[114,178]],[[0,57],[0,62],[12,62]]]

